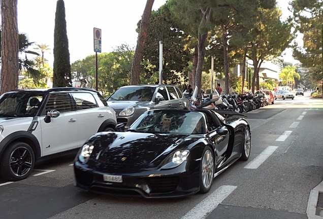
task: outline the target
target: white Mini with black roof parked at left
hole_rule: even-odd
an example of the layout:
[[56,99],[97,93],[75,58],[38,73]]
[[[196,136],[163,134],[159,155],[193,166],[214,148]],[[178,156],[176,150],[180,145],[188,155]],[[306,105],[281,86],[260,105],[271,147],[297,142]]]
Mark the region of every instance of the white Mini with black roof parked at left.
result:
[[63,152],[75,155],[88,137],[114,131],[116,124],[113,108],[92,89],[7,92],[0,97],[0,174],[24,179],[37,161]]

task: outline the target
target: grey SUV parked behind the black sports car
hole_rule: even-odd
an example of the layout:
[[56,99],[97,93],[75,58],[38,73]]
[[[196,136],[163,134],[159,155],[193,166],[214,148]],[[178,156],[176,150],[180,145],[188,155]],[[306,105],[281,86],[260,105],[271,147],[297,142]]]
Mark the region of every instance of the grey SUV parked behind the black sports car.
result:
[[108,104],[117,113],[117,122],[128,129],[139,116],[149,109],[190,109],[189,100],[174,85],[131,85],[116,90]]

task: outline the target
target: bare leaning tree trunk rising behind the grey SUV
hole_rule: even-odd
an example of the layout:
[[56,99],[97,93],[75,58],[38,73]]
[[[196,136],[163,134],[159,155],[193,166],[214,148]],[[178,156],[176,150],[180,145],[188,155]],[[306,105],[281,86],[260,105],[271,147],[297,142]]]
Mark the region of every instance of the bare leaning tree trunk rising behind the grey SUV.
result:
[[140,24],[140,33],[138,36],[137,47],[134,55],[134,62],[131,69],[131,81],[130,81],[131,85],[139,84],[140,62],[141,62],[142,54],[144,52],[143,50],[145,46],[145,41],[148,35],[147,30],[149,26],[149,18],[150,18],[153,3],[154,3],[154,0],[147,0],[146,7],[142,15],[141,24]]

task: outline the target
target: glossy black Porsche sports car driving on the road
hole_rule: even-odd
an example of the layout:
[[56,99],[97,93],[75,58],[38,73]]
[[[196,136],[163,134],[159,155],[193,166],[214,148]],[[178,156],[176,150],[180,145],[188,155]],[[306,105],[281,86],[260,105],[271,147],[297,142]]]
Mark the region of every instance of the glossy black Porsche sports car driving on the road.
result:
[[75,158],[76,186],[145,198],[207,193],[215,176],[250,155],[248,122],[227,113],[153,109],[125,132],[96,133]]

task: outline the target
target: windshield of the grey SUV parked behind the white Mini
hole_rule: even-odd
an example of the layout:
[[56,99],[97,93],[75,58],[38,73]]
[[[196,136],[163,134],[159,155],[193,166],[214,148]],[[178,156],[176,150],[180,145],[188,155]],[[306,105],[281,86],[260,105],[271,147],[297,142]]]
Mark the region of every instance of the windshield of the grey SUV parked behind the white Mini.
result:
[[150,101],[154,93],[153,87],[121,87],[116,90],[109,100]]

